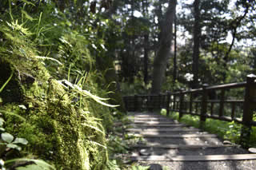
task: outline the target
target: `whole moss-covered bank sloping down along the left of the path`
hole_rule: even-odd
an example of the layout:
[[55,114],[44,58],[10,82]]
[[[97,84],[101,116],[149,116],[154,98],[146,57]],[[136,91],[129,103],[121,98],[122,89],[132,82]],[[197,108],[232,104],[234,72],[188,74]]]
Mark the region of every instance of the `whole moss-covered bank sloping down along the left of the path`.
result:
[[[0,87],[14,73],[0,94],[1,110],[26,119],[4,114],[6,132],[29,141],[21,155],[10,158],[49,160],[57,169],[105,169],[108,161],[105,131],[112,125],[110,109],[65,88],[52,77],[42,58],[36,57],[38,49],[29,38],[8,27],[1,31],[6,39],[0,50]],[[78,87],[105,97],[106,90],[99,88],[94,77],[89,72],[84,84]]]

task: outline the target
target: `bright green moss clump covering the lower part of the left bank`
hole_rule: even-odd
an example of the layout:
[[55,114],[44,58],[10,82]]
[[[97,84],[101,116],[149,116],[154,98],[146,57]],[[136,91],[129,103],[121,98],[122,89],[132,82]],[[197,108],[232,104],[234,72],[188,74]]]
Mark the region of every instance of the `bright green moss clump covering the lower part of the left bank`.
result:
[[[46,71],[46,70],[44,70]],[[26,110],[15,104],[4,108],[26,119],[6,116],[6,130],[29,144],[22,154],[52,161],[57,169],[103,169],[107,158],[105,128],[111,126],[110,110],[82,99],[78,109],[68,92],[54,79],[37,81],[25,88]]]

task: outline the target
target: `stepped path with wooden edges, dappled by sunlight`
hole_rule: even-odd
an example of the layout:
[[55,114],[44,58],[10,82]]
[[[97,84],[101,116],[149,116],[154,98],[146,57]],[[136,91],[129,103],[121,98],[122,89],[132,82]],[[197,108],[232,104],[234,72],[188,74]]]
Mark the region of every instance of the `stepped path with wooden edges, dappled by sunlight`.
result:
[[[130,135],[142,137],[130,159],[140,165],[160,164],[169,170],[253,170],[256,154],[214,134],[155,113],[129,113]],[[154,169],[154,168],[152,168]]]

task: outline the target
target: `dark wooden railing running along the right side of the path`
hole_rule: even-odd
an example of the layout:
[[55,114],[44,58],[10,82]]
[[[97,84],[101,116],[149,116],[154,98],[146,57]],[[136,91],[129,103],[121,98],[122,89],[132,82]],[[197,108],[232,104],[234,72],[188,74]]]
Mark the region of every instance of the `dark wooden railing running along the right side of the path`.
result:
[[[206,118],[221,121],[235,121],[242,124],[241,140],[250,137],[251,126],[256,110],[256,76],[250,74],[246,82],[226,85],[202,85],[200,89],[179,90],[174,93],[159,95],[134,95],[123,97],[128,111],[144,109],[166,109],[178,112],[179,118],[184,114],[197,115],[203,124]],[[240,96],[241,98],[237,98]]]

